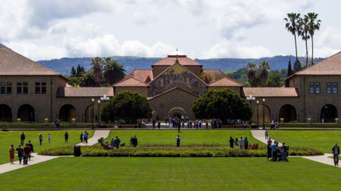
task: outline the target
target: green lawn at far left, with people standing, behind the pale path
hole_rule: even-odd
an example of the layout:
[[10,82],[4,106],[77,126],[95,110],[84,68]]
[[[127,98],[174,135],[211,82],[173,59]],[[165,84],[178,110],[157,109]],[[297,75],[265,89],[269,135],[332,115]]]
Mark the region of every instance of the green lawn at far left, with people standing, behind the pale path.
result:
[[[69,134],[68,143],[64,142],[64,134],[66,131],[26,131],[25,143],[31,140],[34,152],[40,149],[50,149],[59,146],[71,146],[80,142],[80,133],[84,131],[67,131]],[[87,131],[92,137],[94,131]],[[9,147],[11,144],[18,147],[20,144],[20,135],[22,132],[0,132],[0,164],[9,163]],[[43,144],[40,146],[38,134],[43,134]],[[51,143],[48,143],[48,134],[51,134]],[[17,157],[16,157],[17,159]]]

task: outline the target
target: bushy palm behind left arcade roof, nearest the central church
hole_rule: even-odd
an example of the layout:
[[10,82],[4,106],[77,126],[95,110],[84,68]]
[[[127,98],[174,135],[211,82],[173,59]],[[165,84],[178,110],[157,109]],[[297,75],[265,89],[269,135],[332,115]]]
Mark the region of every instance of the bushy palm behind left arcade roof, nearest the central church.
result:
[[124,79],[124,72],[126,71],[123,65],[119,64],[119,62],[112,60],[111,57],[104,58],[104,79],[107,84],[117,83],[117,81],[121,81]]

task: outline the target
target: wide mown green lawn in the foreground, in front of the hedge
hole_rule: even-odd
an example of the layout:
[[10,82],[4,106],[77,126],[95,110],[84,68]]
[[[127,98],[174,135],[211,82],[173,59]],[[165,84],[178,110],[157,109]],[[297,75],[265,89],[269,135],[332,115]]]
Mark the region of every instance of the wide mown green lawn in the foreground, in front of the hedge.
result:
[[[304,158],[57,158],[0,175],[1,190],[340,190],[341,170]],[[29,177],[29,181],[18,178]]]

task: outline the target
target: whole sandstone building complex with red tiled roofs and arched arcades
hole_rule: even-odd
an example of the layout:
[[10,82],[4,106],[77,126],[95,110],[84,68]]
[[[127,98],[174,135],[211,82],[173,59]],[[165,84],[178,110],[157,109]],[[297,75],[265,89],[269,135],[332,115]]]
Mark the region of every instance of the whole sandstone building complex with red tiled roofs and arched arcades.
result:
[[305,122],[308,118],[312,122],[335,121],[341,110],[340,67],[339,52],[289,76],[289,87],[251,88],[230,79],[220,69],[202,69],[202,64],[174,52],[151,64],[151,69],[131,71],[112,87],[75,88],[58,72],[0,44],[0,120],[43,122],[45,118],[75,118],[90,122],[92,110],[95,120],[98,118],[100,97],[112,97],[122,91],[146,96],[155,120],[168,115],[194,119],[191,108],[197,98],[212,89],[229,88],[239,96],[256,98],[251,102],[253,122],[261,122],[263,113],[266,122],[281,118],[285,122]]

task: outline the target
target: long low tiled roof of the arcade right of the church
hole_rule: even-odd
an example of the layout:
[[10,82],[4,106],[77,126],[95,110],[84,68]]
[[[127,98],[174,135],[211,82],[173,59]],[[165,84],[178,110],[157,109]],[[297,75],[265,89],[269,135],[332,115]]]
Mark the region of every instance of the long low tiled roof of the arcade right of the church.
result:
[[243,87],[244,96],[254,97],[298,97],[294,87]]

